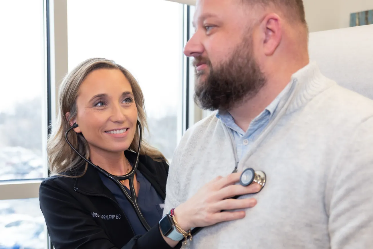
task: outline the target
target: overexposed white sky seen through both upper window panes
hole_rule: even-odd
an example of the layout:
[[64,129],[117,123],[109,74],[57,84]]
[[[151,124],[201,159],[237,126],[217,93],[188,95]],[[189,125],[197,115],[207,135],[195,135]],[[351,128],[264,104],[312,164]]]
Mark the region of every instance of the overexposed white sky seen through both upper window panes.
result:
[[[9,11],[17,9],[15,12]],[[45,96],[43,1],[1,1],[0,112]],[[69,70],[90,57],[113,59],[140,83],[149,116],[181,103],[181,4],[164,0],[68,0]],[[35,103],[40,108],[41,103]]]

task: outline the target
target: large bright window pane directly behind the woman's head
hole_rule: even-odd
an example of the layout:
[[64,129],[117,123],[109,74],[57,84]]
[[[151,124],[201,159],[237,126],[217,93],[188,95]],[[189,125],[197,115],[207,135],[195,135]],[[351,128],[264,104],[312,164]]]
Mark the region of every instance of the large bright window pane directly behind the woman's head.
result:
[[146,138],[169,161],[182,132],[182,7],[164,0],[68,0],[69,70],[91,57],[128,69],[144,93]]

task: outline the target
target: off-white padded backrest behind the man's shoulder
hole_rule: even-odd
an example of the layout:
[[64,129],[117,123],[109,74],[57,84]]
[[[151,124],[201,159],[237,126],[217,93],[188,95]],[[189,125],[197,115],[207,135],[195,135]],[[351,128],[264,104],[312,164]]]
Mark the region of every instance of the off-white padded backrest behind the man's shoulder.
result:
[[310,33],[308,50],[326,77],[373,99],[373,25]]

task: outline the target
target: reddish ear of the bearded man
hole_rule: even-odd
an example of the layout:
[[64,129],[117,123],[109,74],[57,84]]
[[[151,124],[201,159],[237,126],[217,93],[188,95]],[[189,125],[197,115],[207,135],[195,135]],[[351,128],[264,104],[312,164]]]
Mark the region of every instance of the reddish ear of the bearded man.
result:
[[266,56],[272,56],[282,39],[282,23],[280,17],[275,13],[266,15],[261,23],[261,31],[264,33],[264,54]]

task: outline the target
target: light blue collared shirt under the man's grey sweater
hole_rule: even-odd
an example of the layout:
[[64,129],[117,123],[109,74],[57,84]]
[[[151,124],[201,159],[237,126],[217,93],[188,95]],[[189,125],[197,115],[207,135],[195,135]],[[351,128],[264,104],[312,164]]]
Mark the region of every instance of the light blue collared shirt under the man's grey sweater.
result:
[[261,112],[253,121],[251,121],[249,128],[244,132],[238,125],[235,123],[232,115],[229,112],[220,112],[216,113],[216,117],[222,121],[226,127],[233,134],[233,138],[237,148],[238,160],[241,160],[249,150],[255,139],[261,134],[261,132],[266,128],[269,121],[272,119],[273,113],[275,113],[280,100],[288,91],[290,84],[288,84],[281,93],[275,98],[275,100],[270,103],[263,112]]

